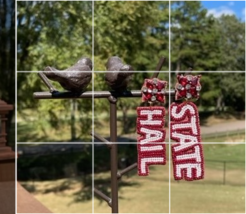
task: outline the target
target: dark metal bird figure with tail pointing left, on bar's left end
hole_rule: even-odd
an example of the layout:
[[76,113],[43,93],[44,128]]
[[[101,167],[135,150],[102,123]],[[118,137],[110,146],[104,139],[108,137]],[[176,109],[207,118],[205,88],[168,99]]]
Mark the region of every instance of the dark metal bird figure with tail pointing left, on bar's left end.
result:
[[50,80],[59,82],[64,89],[81,93],[91,81],[91,70],[91,60],[87,57],[82,57],[75,65],[63,71],[48,66],[45,68],[44,74]]

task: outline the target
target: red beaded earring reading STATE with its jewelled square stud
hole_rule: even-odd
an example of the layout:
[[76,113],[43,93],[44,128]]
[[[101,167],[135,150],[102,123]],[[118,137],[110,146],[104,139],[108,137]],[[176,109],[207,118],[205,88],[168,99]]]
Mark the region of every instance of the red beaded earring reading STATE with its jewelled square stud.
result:
[[204,177],[204,158],[201,144],[197,106],[191,100],[199,98],[201,75],[177,75],[175,100],[170,106],[170,138],[174,179],[187,181]]

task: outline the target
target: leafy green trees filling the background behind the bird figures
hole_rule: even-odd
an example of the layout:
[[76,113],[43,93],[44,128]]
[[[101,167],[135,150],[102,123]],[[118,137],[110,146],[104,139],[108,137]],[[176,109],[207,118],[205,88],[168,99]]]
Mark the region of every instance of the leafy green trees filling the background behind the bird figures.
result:
[[[91,56],[94,70],[105,71],[110,56],[118,55],[137,71],[153,71],[160,56],[169,53],[169,3],[152,1],[94,2],[92,26],[91,2],[17,2],[17,69],[38,71],[51,65],[58,69],[71,66],[81,56]],[[245,70],[245,23],[235,16],[215,18],[199,1],[173,1],[171,5],[171,67],[174,74],[192,67],[195,71],[214,71],[202,77],[201,109],[221,113],[245,110],[245,74],[218,71]],[[92,27],[94,48],[92,50]],[[168,63],[162,68],[168,71]],[[136,73],[129,88],[138,89],[151,74]],[[163,76],[167,79],[167,75]],[[25,121],[27,109],[38,118],[47,118],[51,127],[59,128],[60,115],[69,118],[69,106],[79,105],[81,112],[91,112],[91,102],[34,101],[34,91],[44,91],[36,74],[18,74],[18,116]],[[91,90],[92,86],[88,88]],[[101,73],[94,73],[94,89],[108,90]],[[107,114],[107,101],[95,100],[95,115]],[[120,99],[122,126],[137,100]],[[73,109],[73,108],[72,108]],[[102,112],[102,113],[103,113]],[[101,114],[99,114],[101,115]],[[89,116],[89,115],[88,115]],[[38,120],[39,120],[38,119]],[[102,118],[95,118],[100,124]],[[90,123],[89,117],[87,118]],[[128,121],[129,122],[129,121]],[[91,126],[81,123],[86,133]],[[87,129],[85,128],[87,127]],[[44,125],[38,125],[44,130]],[[123,133],[129,130],[123,128]],[[73,139],[78,136],[71,137]]]

